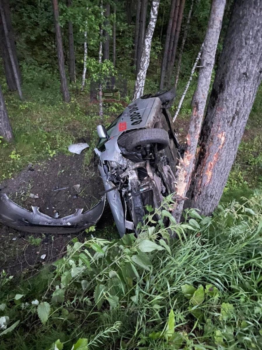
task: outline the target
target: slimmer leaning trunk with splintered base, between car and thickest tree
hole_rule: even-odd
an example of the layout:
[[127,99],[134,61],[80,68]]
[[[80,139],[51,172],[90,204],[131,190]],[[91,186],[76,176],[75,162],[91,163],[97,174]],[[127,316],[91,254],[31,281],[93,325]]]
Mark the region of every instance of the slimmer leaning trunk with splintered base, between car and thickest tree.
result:
[[178,202],[173,211],[173,216],[177,222],[180,222],[185,197],[191,180],[225,5],[226,0],[213,0],[211,5],[211,12],[201,57],[201,66],[203,67],[200,68],[199,71],[198,85],[193,100],[193,111],[186,137],[186,150],[183,160],[180,162],[178,173],[176,191]]

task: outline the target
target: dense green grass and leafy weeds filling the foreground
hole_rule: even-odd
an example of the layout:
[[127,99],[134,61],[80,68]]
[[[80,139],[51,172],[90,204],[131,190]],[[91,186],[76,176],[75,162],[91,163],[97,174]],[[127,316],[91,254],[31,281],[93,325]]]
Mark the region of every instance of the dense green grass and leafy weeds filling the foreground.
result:
[[75,239],[33,278],[2,272],[0,348],[260,349],[262,191],[169,229],[163,205],[137,239]]

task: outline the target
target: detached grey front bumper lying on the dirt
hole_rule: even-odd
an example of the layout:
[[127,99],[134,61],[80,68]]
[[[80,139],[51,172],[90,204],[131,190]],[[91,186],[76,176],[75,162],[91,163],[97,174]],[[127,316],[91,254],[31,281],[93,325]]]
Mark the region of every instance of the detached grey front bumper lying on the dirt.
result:
[[54,219],[42,214],[38,207],[28,211],[11,201],[8,196],[0,194],[0,222],[16,230],[34,233],[76,233],[95,225],[101,218],[105,206],[105,195],[94,208],[84,212],[77,209],[75,214]]

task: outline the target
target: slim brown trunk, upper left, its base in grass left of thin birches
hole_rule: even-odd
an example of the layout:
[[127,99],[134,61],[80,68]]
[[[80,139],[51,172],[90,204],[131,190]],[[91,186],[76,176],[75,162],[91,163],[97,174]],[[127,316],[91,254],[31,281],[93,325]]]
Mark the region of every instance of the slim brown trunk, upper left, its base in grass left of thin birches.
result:
[[64,101],[70,102],[70,95],[69,95],[68,85],[67,85],[67,77],[64,69],[64,52],[63,52],[61,28],[59,24],[58,0],[52,0],[52,1],[53,1],[53,9],[54,9],[56,49],[57,49],[58,66],[60,71],[61,90],[62,90]]

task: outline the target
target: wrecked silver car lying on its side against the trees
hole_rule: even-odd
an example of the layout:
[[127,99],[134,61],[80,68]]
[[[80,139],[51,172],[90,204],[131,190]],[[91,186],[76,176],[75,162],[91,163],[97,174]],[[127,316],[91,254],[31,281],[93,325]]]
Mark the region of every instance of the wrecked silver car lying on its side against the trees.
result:
[[159,208],[175,192],[179,143],[168,107],[175,90],[145,95],[132,102],[100,138],[95,153],[106,196],[122,237],[136,232],[147,206]]

